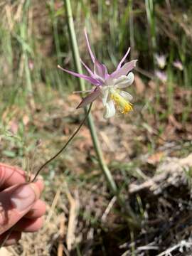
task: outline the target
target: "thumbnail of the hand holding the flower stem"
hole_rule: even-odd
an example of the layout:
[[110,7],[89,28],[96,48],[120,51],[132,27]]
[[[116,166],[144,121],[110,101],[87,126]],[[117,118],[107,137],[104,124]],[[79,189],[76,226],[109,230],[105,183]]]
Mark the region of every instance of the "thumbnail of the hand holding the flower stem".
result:
[[36,201],[36,193],[31,185],[19,186],[11,196],[11,202],[19,211],[26,210]]

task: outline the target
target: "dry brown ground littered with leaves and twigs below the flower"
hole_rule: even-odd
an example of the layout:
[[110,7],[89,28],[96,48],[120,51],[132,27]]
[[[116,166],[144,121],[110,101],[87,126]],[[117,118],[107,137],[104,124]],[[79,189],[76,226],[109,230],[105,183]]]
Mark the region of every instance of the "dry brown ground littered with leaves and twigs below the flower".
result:
[[[65,255],[166,255],[167,250],[183,255],[182,250],[191,250],[192,116],[189,112],[184,122],[181,116],[191,91],[176,88],[174,113],[164,117],[166,86],[159,85],[156,102],[151,83],[143,82],[142,91],[138,84],[133,87],[134,111],[129,114],[106,121],[101,102],[92,108],[105,161],[124,205],[130,203],[142,227],[127,224],[126,210],[107,188],[84,125],[68,149],[41,172],[45,225],[39,233],[23,234],[20,245],[7,249],[11,255],[56,255],[61,245]],[[154,103],[152,111],[148,100],[141,100],[146,95]],[[11,117],[5,110],[9,134],[1,138],[3,161],[24,165],[29,172],[27,167],[33,166],[34,172],[80,124],[84,112],[75,110],[78,102],[78,95],[63,98],[53,90],[46,107],[39,102],[31,107],[29,101],[25,109],[12,107]],[[16,136],[20,130],[22,142]],[[15,161],[18,151],[26,161]]]

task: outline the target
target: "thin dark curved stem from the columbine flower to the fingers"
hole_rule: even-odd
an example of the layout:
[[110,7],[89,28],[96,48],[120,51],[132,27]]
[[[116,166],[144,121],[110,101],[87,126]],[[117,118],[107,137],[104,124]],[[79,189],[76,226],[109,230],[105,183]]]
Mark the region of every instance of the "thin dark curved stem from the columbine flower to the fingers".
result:
[[35,177],[32,179],[31,182],[34,182],[38,176],[38,174],[40,173],[40,171],[47,165],[49,164],[51,161],[53,161],[63,150],[66,149],[66,147],[68,146],[68,144],[70,144],[70,142],[73,140],[73,138],[75,137],[76,134],[78,134],[80,128],[82,127],[83,124],[85,124],[85,121],[87,119],[87,117],[89,116],[90,114],[90,110],[91,110],[91,107],[92,107],[92,103],[90,104],[90,107],[89,109],[87,110],[87,113],[84,117],[84,119],[82,120],[82,122],[80,123],[80,126],[78,127],[78,129],[75,130],[75,132],[71,135],[71,137],[68,139],[68,142],[65,143],[65,145],[53,156],[51,157],[50,159],[48,159],[48,161],[46,161],[46,163],[44,163],[39,169],[38,171],[36,172],[36,175]]

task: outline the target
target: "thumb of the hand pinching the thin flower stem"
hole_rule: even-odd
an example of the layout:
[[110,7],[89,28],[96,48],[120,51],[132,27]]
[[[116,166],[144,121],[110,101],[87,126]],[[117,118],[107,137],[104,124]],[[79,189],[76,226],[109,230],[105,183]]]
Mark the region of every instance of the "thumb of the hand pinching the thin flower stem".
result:
[[26,215],[40,196],[36,183],[6,188],[0,193],[0,235]]

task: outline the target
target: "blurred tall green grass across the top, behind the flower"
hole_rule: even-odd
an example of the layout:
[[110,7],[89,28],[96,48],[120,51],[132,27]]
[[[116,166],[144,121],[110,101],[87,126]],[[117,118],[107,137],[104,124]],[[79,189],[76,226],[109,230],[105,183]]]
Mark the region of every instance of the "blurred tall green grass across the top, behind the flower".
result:
[[[165,1],[153,0],[143,3],[81,0],[78,4],[72,1],[72,4],[80,52],[85,60],[88,54],[84,54],[82,31],[87,26],[95,53],[105,63],[116,65],[131,45],[132,58],[139,58],[139,68],[153,73],[157,68],[154,67],[154,54],[164,53],[169,61],[165,70],[168,75],[178,85],[191,85],[192,21],[187,1],[177,4],[170,1],[171,9]],[[65,90],[63,85],[66,84],[68,90],[73,89],[68,76],[58,73],[56,68],[63,61],[65,66],[70,64],[73,68],[63,1],[44,1],[36,5],[28,0],[23,1],[23,6],[20,1],[14,4],[5,1],[1,6],[1,21],[2,85],[7,87],[9,83],[10,90],[13,86],[21,86],[27,95],[36,90],[34,82],[46,82],[59,90]],[[183,71],[173,67],[174,60],[181,60]],[[113,69],[112,64],[110,68]]]

